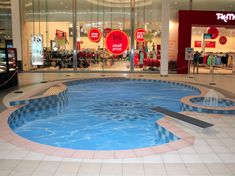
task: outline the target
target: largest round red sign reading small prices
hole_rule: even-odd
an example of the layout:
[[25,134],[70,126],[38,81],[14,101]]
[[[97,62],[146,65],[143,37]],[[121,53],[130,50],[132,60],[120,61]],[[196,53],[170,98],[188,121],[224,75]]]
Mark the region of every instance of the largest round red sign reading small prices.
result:
[[121,55],[129,47],[129,38],[125,32],[113,30],[107,35],[105,46],[113,55]]

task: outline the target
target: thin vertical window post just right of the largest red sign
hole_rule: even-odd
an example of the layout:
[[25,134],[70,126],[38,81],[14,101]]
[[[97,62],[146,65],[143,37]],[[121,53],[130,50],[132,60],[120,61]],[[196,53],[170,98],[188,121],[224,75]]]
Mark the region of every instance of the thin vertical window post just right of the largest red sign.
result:
[[134,72],[134,54],[135,54],[135,41],[134,41],[134,30],[135,30],[135,0],[131,0],[131,53],[130,53],[130,65],[131,72]]

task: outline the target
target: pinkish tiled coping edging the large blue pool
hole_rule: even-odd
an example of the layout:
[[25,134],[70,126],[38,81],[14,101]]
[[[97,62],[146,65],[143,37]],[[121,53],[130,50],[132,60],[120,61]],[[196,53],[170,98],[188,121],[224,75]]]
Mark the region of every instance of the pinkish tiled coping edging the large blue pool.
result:
[[[106,79],[106,78],[102,78]],[[123,78],[122,78],[123,79]],[[76,81],[78,79],[72,79],[70,81]],[[80,79],[80,81],[87,80],[87,79]],[[133,79],[128,79],[133,80]],[[134,79],[134,80],[141,80],[141,79]],[[142,79],[143,80],[143,79]],[[151,81],[151,80],[150,80]],[[153,81],[153,80],[152,80]],[[31,92],[29,94],[29,97],[24,96],[23,98],[25,100],[28,99],[35,99],[33,96],[34,94],[45,90],[49,87],[59,85],[59,84],[66,84],[69,81],[58,81],[50,83],[50,85],[47,85],[44,87],[44,89],[35,90],[34,93]],[[173,81],[162,81],[166,83],[175,83]],[[188,85],[185,83],[181,83],[184,85]],[[196,86],[192,86],[196,87]],[[61,89],[64,90],[64,89]],[[199,89],[200,90],[200,89]],[[58,93],[58,92],[57,92]],[[41,95],[36,96],[37,97],[48,97],[51,95]],[[22,97],[21,97],[22,98]],[[21,101],[22,99],[18,98],[16,101]],[[49,155],[54,155],[58,157],[65,157],[65,158],[81,158],[81,159],[120,159],[120,158],[136,158],[136,157],[143,157],[143,156],[149,156],[149,155],[156,155],[161,154],[165,152],[175,151],[187,146],[191,146],[194,144],[194,137],[185,131],[181,130],[180,128],[173,125],[173,122],[166,117],[161,118],[160,120],[156,121],[158,125],[161,127],[167,129],[169,132],[173,133],[180,139],[177,141],[172,141],[167,144],[163,144],[160,146],[152,146],[152,147],[146,147],[146,148],[140,148],[140,149],[132,149],[132,150],[111,150],[111,151],[96,151],[96,150],[74,150],[74,149],[65,149],[65,148],[58,148],[53,147],[49,145],[44,145],[40,143],[36,143],[33,141],[30,141],[26,138],[23,138],[19,135],[17,135],[8,125],[8,118],[10,115],[16,111],[19,108],[22,108],[24,105],[16,105],[9,107],[7,110],[2,112],[0,114],[0,138],[3,139],[6,142],[9,142],[17,147],[33,151],[33,152],[39,152]]]

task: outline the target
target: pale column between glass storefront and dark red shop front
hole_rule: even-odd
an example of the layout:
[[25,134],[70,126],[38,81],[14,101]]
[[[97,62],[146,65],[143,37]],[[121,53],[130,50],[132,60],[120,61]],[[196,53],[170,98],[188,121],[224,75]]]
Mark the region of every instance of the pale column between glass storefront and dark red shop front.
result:
[[168,44],[169,44],[170,3],[162,0],[162,27],[161,27],[161,66],[160,75],[168,75]]

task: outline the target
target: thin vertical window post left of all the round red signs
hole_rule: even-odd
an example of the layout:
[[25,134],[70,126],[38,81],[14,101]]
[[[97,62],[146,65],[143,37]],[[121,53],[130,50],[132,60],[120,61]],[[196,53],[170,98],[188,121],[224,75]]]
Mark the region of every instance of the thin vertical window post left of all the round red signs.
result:
[[73,70],[77,70],[77,0],[73,0]]

